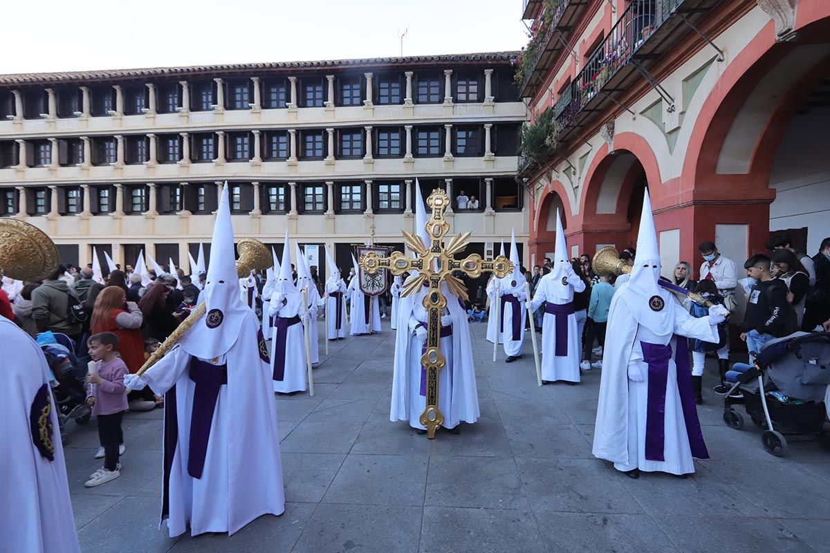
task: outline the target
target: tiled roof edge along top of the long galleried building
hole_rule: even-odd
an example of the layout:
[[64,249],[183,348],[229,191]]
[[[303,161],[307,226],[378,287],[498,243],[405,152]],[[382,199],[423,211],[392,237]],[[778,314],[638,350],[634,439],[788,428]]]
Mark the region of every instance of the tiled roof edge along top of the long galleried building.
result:
[[432,65],[438,63],[486,63],[512,61],[518,51],[481,52],[476,54],[442,54],[437,56],[403,56],[362,58],[354,60],[279,61],[269,63],[241,63],[229,65],[192,65],[189,67],[147,67],[143,69],[116,69],[66,71],[56,73],[17,73],[0,75],[0,85],[33,85],[50,83],[88,82],[92,80],[135,79],[184,75],[227,75],[284,70],[313,70],[322,68],[357,68],[384,65]]

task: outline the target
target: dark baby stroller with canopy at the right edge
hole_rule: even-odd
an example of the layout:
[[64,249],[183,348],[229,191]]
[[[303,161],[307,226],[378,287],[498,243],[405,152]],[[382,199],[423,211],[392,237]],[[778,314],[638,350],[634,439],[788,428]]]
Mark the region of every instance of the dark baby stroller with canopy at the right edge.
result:
[[[784,434],[812,435],[828,447],[830,432],[824,428],[828,384],[830,333],[794,332],[764,344],[755,366],[740,375],[726,396],[723,419],[741,429],[744,417],[733,405],[743,401],[752,422],[766,426],[761,443],[776,457],[787,451]],[[743,400],[732,397],[738,388]]]

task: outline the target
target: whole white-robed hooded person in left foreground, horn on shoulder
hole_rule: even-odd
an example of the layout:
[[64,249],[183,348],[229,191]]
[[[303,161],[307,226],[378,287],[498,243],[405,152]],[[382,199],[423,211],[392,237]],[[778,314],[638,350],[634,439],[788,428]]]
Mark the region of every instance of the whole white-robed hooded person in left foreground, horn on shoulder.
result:
[[239,293],[227,185],[222,190],[203,290],[205,316],[142,376],[164,400],[162,521],[171,537],[190,526],[233,534],[285,511],[280,433],[260,323]]

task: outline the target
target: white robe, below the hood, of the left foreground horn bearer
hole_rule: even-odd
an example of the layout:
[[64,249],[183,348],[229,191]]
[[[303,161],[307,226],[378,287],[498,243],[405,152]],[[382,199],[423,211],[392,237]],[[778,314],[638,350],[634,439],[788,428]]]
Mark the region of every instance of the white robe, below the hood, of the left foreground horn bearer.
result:
[[[183,534],[188,524],[191,536],[233,534],[261,515],[285,511],[280,432],[269,386],[271,366],[266,362],[256,317],[246,316],[239,324],[242,328],[227,353],[215,361],[203,360],[214,365],[227,363],[227,384],[220,388],[213,411],[202,478],[188,473],[196,388],[189,377],[193,357],[183,347],[174,347],[142,376],[159,395],[176,386],[174,400],[168,394],[165,401],[165,417],[171,416],[171,404],[175,405],[178,429],[169,474],[167,524],[171,537]],[[165,440],[168,432],[165,424]]]

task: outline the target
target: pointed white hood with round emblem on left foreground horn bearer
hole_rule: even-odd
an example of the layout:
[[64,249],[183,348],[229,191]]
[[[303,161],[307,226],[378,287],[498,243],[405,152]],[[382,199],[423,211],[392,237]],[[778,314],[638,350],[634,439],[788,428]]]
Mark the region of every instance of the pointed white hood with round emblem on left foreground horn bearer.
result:
[[239,295],[227,185],[222,189],[213,224],[211,264],[201,297],[204,298],[205,316],[185,332],[178,343],[194,357],[213,359],[227,353],[237,342],[244,318],[256,318]]

